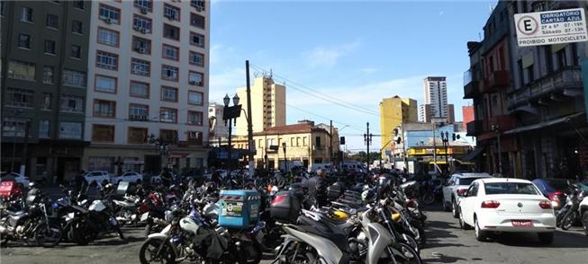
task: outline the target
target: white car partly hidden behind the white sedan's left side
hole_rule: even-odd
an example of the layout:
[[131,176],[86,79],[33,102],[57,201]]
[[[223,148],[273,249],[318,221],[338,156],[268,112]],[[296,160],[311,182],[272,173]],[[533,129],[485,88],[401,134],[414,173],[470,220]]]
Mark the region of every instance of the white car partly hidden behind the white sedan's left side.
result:
[[443,209],[445,211],[451,210],[454,217],[459,217],[457,203],[460,197],[457,194],[465,194],[472,181],[490,177],[490,174],[485,172],[464,172],[451,175],[447,184],[443,185]]

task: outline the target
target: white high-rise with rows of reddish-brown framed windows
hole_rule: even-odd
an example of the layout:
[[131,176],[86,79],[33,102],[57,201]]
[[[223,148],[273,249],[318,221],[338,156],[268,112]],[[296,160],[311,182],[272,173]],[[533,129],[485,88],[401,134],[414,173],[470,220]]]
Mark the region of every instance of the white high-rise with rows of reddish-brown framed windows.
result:
[[210,2],[91,4],[83,168],[205,166]]

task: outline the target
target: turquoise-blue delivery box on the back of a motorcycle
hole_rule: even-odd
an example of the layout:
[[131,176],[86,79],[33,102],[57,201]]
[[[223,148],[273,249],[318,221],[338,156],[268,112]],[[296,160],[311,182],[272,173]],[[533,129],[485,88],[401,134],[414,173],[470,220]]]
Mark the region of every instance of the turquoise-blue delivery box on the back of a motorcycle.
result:
[[259,193],[251,189],[221,190],[219,225],[245,229],[258,223]]

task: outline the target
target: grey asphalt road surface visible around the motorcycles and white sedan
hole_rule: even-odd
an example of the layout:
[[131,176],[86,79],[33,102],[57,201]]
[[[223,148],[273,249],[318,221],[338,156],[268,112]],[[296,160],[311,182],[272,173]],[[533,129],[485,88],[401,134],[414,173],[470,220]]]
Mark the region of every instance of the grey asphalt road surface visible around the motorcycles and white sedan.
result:
[[[495,242],[478,242],[474,231],[460,230],[449,213],[428,212],[428,244],[421,251],[426,263],[587,263],[588,237],[579,227],[556,231],[552,245],[539,244],[536,235],[503,234]],[[0,263],[138,263],[141,228],[124,228],[128,242],[110,237],[88,246],[61,243],[54,249],[10,244],[0,249]],[[262,263],[268,263],[271,256]]]

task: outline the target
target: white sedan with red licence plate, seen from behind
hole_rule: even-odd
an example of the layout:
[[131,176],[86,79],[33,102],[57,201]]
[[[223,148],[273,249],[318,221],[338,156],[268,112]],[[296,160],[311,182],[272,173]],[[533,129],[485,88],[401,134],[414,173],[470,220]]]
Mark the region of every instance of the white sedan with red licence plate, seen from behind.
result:
[[538,233],[540,242],[553,242],[556,216],[551,201],[529,180],[474,180],[458,206],[459,225],[474,226],[478,241],[496,232],[520,232]]

